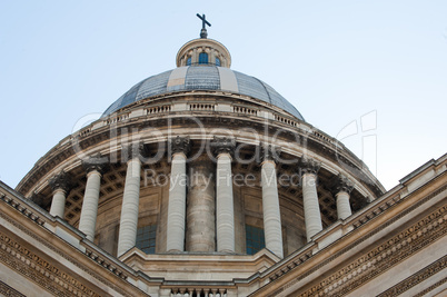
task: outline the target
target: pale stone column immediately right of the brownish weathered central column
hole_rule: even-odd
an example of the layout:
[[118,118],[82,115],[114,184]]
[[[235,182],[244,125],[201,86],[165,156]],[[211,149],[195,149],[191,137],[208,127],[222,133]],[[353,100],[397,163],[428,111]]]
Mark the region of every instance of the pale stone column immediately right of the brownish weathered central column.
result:
[[232,199],[231,155],[235,139],[217,138],[211,142],[217,158],[216,235],[217,251],[235,253],[235,210]]

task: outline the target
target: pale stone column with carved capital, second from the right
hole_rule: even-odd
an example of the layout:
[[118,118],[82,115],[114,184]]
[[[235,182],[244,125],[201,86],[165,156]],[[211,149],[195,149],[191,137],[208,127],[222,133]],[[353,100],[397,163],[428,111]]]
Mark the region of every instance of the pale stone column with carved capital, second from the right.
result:
[[301,161],[302,175],[302,204],[305,207],[305,221],[307,241],[322,230],[321,214],[317,194],[317,172],[320,164],[314,159],[304,158]]

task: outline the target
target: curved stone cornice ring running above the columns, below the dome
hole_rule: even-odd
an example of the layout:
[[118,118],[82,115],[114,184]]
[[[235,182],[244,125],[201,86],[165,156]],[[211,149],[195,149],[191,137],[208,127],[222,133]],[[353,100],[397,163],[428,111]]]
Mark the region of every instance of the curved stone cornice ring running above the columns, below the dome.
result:
[[[215,115],[209,115],[209,112],[202,111],[195,111],[193,116],[197,117],[199,120],[209,125],[211,128],[218,127],[220,128],[221,125],[226,125],[228,127],[232,127],[234,129],[239,129],[240,127],[248,127],[252,128],[260,133],[264,135],[265,132],[265,125],[268,125],[272,130],[275,129],[284,129],[284,123],[275,121],[275,120],[267,120],[259,118],[259,117],[239,117],[235,116],[231,112],[217,112],[220,116],[216,117]],[[32,185],[39,182],[39,180],[51,172],[57,166],[64,162],[66,160],[77,156],[77,154],[85,155],[88,150],[92,150],[99,143],[102,143],[105,140],[109,139],[120,139],[120,130],[127,129],[127,131],[132,131],[132,129],[137,128],[156,128],[156,129],[163,129],[168,122],[171,122],[172,126],[181,125],[182,127],[195,127],[195,122],[188,122],[186,119],[190,117],[191,112],[185,111],[177,111],[177,112],[169,112],[163,115],[160,118],[153,117],[139,117],[132,118],[127,121],[117,122],[113,127],[116,129],[116,133],[112,135],[110,138],[110,127],[103,126],[91,130],[90,133],[85,136],[76,136],[68,140],[61,141],[61,145],[51,149],[44,157],[42,157],[36,166],[31,169],[30,172],[20,181],[17,187],[22,194],[29,194]],[[315,133],[309,133],[308,131],[302,130],[299,127],[287,127],[289,133],[280,133],[280,138],[287,142],[296,142],[296,137],[300,139],[307,139],[306,141],[306,149],[308,151],[314,151],[314,154],[319,155],[337,166],[341,166],[348,172],[351,172],[352,176],[356,177],[356,180],[361,182],[364,187],[371,190],[375,196],[379,196],[383,194],[383,187],[376,179],[370,179],[368,175],[365,175],[364,169],[361,169],[362,164],[359,162],[356,157],[346,149],[340,150],[339,146],[336,146],[331,142],[322,140],[318,138]],[[322,142],[321,142],[322,141]],[[302,143],[297,143],[297,146],[302,146]]]

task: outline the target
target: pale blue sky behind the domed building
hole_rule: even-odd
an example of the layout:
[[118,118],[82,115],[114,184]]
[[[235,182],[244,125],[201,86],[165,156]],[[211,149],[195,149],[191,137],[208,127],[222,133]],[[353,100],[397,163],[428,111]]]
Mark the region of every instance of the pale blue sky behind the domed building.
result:
[[83,117],[224,43],[390,189],[447,152],[447,1],[0,0],[0,179],[11,187]]

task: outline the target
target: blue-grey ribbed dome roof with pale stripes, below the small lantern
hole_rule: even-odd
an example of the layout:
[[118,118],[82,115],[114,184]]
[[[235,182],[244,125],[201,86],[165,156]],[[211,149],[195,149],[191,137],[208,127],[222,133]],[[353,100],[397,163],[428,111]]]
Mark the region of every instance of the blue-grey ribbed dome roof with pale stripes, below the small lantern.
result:
[[218,90],[250,96],[279,107],[304,120],[301,113],[266,82],[217,66],[179,67],[149,77],[122,95],[103,112],[102,117],[152,96],[188,90]]

